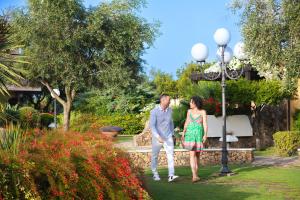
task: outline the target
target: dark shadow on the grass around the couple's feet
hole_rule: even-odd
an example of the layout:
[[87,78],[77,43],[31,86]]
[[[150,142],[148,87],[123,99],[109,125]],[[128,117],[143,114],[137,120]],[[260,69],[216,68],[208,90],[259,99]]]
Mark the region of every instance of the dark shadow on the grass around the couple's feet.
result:
[[[238,170],[239,167],[233,167]],[[248,167],[246,167],[248,168]],[[242,169],[242,167],[241,167]],[[241,170],[240,169],[240,170]],[[210,180],[218,179],[220,166],[200,167],[199,175],[202,178],[200,182],[191,182],[191,171],[188,167],[176,168],[176,174],[179,175],[178,180],[168,183],[168,170],[163,168],[159,170],[161,181],[155,182],[152,180],[152,175],[148,171],[146,173],[146,189],[154,200],[189,200],[189,199],[248,199],[252,196],[257,196],[255,187],[243,191],[237,190],[232,184],[216,184]]]

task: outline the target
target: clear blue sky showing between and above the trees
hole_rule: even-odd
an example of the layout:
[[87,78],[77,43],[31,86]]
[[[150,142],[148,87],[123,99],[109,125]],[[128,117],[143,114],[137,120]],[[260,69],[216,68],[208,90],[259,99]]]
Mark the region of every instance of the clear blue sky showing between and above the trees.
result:
[[[101,0],[84,0],[86,6]],[[216,29],[225,27],[231,32],[229,46],[240,41],[239,18],[228,9],[230,0],[147,0],[140,15],[148,21],[161,22],[161,35],[143,58],[145,70],[160,69],[174,75],[184,63],[192,61],[191,48],[197,42],[209,48],[209,61],[215,60],[217,46],[213,40]],[[1,0],[0,9],[26,5],[26,0]]]

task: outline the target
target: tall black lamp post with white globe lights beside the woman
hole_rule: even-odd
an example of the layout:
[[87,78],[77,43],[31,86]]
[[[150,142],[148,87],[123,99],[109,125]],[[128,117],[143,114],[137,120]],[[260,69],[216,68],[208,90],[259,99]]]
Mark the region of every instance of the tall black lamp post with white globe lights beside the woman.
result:
[[[225,28],[217,29],[214,34],[214,40],[218,45],[217,50],[217,58],[219,60],[220,70],[207,72],[204,70],[202,65],[205,63],[205,60],[208,57],[208,48],[202,44],[198,43],[192,47],[191,54],[192,57],[200,63],[200,69],[202,71],[203,77],[207,80],[216,80],[221,76],[221,86],[222,86],[222,168],[220,171],[220,175],[230,174],[231,171],[228,167],[228,150],[226,145],[226,78],[237,79],[243,73],[243,68],[241,70],[229,69],[227,67],[228,63],[233,57],[233,52],[230,47],[228,47],[228,43],[230,41],[230,32]],[[235,57],[238,59],[244,60],[246,59],[246,55],[244,53],[244,44],[239,42],[234,47]]]

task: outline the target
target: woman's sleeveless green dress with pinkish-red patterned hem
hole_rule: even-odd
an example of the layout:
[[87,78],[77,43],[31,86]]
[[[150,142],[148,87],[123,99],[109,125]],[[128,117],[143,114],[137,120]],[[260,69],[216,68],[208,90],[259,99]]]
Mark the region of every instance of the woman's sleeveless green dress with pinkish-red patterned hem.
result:
[[203,150],[203,118],[199,115],[193,118],[190,113],[189,123],[187,125],[186,133],[184,134],[183,147],[189,151],[200,152]]

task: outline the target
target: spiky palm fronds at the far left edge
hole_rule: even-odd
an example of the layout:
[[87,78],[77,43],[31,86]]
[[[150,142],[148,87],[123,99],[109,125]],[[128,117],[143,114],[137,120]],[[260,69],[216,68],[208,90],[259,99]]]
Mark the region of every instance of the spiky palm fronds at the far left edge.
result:
[[15,63],[27,63],[22,56],[13,53],[20,46],[13,45],[10,40],[10,26],[8,17],[0,15],[0,93],[9,95],[6,84],[20,86],[19,80],[23,79],[21,71],[14,67]]

